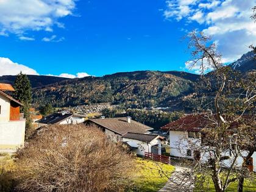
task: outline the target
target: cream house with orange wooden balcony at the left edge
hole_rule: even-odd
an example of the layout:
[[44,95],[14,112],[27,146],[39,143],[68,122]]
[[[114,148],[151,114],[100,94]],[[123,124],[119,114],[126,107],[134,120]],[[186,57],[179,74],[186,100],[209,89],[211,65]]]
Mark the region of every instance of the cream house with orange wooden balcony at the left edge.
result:
[[5,91],[15,91],[10,84],[0,84],[0,151],[13,152],[24,145],[26,119],[21,118],[21,102]]

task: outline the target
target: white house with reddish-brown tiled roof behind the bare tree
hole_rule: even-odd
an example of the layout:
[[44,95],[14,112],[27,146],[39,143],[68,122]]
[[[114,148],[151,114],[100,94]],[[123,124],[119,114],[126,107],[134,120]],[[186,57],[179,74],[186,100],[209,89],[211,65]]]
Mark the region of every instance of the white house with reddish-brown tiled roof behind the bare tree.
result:
[[[203,139],[201,130],[204,129],[210,120],[201,114],[186,115],[177,121],[166,124],[161,129],[169,132],[169,146],[170,155],[172,157],[190,158],[192,160],[201,160],[205,162],[207,160],[207,154],[201,154],[201,151],[193,151],[190,146],[200,146]],[[192,144],[191,144],[192,143]],[[227,152],[228,155],[229,153]],[[242,151],[241,154],[246,156],[247,152]],[[243,163],[243,157],[238,157],[236,161],[238,166]],[[223,166],[229,166],[230,161],[224,160]],[[252,155],[247,165],[252,171],[256,171],[256,152]]]

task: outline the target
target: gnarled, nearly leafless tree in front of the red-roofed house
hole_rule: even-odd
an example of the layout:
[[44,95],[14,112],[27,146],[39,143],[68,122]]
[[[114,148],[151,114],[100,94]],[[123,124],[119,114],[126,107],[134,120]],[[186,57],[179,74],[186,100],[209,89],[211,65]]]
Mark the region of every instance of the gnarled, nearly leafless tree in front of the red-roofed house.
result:
[[[199,84],[208,87],[214,96],[212,110],[207,110],[207,105],[201,108],[201,112],[204,112],[201,118],[207,122],[201,130],[201,139],[188,140],[185,135],[177,143],[180,151],[186,147],[201,152],[201,160],[185,162],[191,170],[180,172],[179,180],[190,180],[203,186],[207,177],[210,177],[215,191],[222,192],[230,183],[241,179],[243,185],[244,178],[252,177],[246,162],[255,150],[254,73],[240,78],[229,66],[224,66],[216,45],[210,43],[210,37],[203,32],[194,30],[187,37],[188,48],[192,49],[189,62],[191,68],[201,69],[202,81]],[[208,69],[212,72],[205,76]],[[241,157],[244,157],[243,168],[237,164]],[[183,184],[180,182],[177,186]]]

